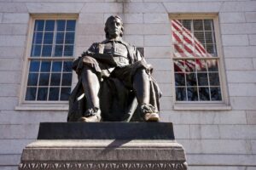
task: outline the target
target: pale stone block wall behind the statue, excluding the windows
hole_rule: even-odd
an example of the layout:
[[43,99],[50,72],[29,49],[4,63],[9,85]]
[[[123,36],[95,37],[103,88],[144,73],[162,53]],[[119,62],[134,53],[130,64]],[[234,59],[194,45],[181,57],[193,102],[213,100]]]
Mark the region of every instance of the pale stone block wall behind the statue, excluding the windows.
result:
[[[76,54],[104,38],[110,14],[125,40],[145,48],[163,91],[161,121],[173,122],[192,170],[256,169],[256,1],[0,0],[0,169],[17,169],[39,122],[65,122],[67,111],[17,111],[30,14],[79,14]],[[230,111],[174,111],[168,13],[219,17]]]

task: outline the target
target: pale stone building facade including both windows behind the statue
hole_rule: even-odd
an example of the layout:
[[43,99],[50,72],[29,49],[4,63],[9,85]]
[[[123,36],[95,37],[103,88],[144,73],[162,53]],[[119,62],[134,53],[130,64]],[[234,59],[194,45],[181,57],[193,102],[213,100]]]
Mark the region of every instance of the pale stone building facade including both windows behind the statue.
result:
[[160,84],[190,169],[256,169],[256,1],[1,0],[0,169],[39,122],[66,122],[71,64],[118,14]]

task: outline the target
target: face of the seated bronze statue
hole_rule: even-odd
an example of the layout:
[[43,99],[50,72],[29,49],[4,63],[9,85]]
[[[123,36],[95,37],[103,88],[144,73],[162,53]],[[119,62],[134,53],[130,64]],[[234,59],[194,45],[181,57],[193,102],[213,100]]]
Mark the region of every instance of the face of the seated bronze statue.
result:
[[122,23],[118,18],[108,20],[108,35],[109,38],[119,37],[122,32]]

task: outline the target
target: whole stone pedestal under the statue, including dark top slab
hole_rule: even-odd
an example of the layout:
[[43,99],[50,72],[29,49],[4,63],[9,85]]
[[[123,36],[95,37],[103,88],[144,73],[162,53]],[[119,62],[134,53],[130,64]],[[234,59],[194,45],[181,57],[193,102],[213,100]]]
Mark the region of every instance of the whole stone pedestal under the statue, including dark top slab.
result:
[[187,163],[172,123],[41,123],[19,169],[185,170]]

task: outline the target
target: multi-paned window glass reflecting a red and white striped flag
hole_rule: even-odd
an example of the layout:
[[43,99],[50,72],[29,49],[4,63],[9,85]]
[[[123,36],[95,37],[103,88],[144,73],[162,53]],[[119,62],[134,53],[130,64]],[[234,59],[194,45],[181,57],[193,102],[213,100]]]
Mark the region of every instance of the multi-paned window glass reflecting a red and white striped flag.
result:
[[213,19],[172,19],[175,99],[223,100]]

